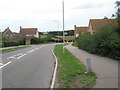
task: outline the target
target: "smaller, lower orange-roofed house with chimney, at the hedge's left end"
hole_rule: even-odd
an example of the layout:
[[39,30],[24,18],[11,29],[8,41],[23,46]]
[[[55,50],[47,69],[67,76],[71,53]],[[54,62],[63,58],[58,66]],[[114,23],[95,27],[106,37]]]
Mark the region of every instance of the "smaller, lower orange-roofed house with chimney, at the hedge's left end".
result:
[[79,35],[79,33],[81,33],[81,34],[84,34],[84,33],[86,33],[86,32],[88,32],[88,27],[86,26],[86,27],[77,27],[76,25],[74,26],[74,35],[75,35],[75,37],[78,37],[78,35]]

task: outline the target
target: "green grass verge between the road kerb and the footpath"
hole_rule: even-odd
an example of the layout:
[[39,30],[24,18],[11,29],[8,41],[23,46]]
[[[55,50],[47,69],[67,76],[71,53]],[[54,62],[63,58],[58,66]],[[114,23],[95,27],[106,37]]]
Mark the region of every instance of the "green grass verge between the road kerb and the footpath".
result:
[[58,58],[58,88],[90,88],[95,84],[95,73],[87,73],[85,65],[62,45],[56,45],[54,52]]

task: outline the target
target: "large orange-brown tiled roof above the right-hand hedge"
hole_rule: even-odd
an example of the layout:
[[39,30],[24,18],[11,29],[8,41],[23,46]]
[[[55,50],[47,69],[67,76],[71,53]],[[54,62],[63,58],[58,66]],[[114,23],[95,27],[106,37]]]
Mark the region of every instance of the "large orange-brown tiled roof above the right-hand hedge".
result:
[[116,19],[90,19],[92,30],[95,31],[103,26],[117,23]]

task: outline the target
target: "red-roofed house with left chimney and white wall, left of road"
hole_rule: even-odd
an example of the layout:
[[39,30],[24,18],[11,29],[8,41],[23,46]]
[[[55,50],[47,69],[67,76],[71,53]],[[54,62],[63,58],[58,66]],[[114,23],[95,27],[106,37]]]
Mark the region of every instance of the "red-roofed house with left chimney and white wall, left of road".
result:
[[20,33],[23,37],[34,36],[39,38],[39,33],[37,28],[22,28],[20,27]]

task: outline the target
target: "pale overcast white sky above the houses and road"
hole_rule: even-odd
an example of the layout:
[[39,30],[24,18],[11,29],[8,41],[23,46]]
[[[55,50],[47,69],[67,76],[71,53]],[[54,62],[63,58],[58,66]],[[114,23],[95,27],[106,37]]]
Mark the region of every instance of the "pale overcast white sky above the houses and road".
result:
[[[38,28],[40,32],[62,30],[63,0],[0,0],[0,30],[13,32]],[[64,0],[65,30],[88,26],[89,19],[111,18],[116,0]]]

